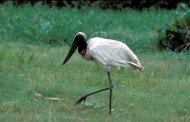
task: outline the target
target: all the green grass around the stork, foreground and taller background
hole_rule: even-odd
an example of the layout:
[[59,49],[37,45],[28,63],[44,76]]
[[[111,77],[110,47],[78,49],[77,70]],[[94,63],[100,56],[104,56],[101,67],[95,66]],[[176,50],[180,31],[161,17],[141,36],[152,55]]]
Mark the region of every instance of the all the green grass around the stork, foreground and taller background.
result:
[[[156,43],[156,30],[176,18],[174,10],[58,10],[6,4],[0,6],[0,18],[0,121],[190,121],[189,52],[149,50]],[[112,116],[108,92],[74,106],[80,96],[108,86],[103,68],[77,53],[61,65],[68,50],[62,45],[71,43],[77,31],[124,41],[145,68],[112,70]],[[51,39],[56,42],[49,44]],[[52,97],[63,100],[47,99]]]

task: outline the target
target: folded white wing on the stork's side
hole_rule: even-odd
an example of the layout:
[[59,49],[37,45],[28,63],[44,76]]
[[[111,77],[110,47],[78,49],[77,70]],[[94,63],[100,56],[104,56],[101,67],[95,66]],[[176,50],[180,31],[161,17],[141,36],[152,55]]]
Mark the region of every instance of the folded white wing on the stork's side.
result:
[[127,47],[127,45],[120,42],[110,42],[93,44],[89,47],[89,54],[93,59],[104,65],[111,67],[132,67],[141,70],[142,66],[136,55]]

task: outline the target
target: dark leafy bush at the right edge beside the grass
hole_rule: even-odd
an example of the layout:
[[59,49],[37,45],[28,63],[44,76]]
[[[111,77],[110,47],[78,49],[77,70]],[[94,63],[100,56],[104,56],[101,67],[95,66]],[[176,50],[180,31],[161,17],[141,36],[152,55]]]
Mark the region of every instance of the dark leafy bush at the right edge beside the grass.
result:
[[167,25],[162,36],[162,31],[158,31],[160,50],[169,48],[172,51],[186,51],[190,48],[190,10],[182,17],[174,20],[174,23]]

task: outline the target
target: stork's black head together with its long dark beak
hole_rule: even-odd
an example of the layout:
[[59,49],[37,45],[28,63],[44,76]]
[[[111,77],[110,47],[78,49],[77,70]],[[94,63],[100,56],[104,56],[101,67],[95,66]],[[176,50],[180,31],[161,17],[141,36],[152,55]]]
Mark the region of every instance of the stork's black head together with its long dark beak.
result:
[[78,52],[81,53],[83,50],[86,51],[86,47],[87,47],[87,42],[86,42],[86,34],[83,32],[78,32],[74,38],[74,41],[69,49],[69,52],[63,62],[63,64],[65,64],[70,57],[73,55],[73,53],[75,52],[75,50],[78,47]]

